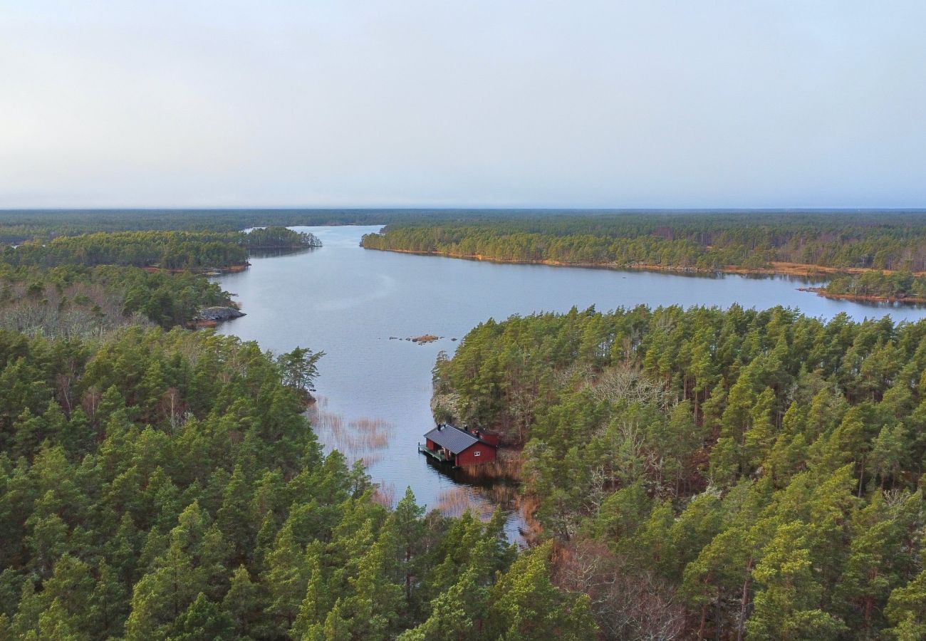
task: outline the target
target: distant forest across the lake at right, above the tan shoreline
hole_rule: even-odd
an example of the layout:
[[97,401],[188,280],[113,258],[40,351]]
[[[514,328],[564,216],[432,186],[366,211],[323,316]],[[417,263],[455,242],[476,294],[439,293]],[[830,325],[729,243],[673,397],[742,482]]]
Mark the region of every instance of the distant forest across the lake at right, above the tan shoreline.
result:
[[921,212],[625,212],[399,221],[369,249],[458,258],[675,270],[783,270],[775,263],[926,270]]

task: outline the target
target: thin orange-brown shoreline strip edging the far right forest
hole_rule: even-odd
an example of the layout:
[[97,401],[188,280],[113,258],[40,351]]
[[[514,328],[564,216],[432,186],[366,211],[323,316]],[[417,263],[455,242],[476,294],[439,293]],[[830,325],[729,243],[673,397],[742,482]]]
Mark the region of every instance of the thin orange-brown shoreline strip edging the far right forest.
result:
[[[654,265],[650,263],[638,263],[635,265],[619,265],[616,263],[580,263],[566,262],[562,260],[552,260],[544,258],[542,260],[516,260],[507,258],[486,258],[482,254],[451,254],[439,251],[418,251],[414,249],[392,249],[381,247],[367,247],[360,245],[364,249],[373,251],[395,252],[396,254],[413,254],[416,256],[436,256],[440,258],[461,258],[463,260],[479,260],[481,262],[491,262],[507,265],[546,265],[549,267],[581,267],[593,270],[630,270],[630,271],[669,271],[679,274],[740,274],[740,275],[759,275],[759,276],[795,276],[799,278],[813,278],[815,276],[829,276],[835,274],[861,274],[868,271],[879,271],[883,273],[893,273],[895,270],[875,270],[873,268],[863,267],[846,267],[835,268],[825,265],[811,265],[808,263],[791,263],[785,261],[774,261],[767,268],[746,268],[728,265],[720,269],[707,269],[700,267],[669,267],[666,265]],[[926,272],[914,272],[915,276],[926,275]],[[808,291],[802,289],[801,291]]]

